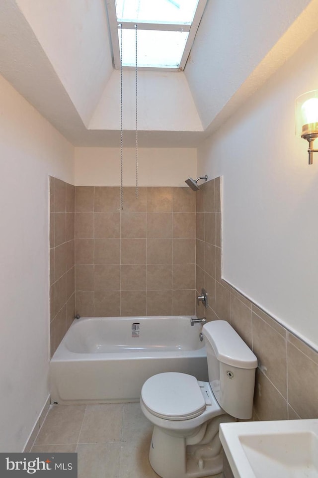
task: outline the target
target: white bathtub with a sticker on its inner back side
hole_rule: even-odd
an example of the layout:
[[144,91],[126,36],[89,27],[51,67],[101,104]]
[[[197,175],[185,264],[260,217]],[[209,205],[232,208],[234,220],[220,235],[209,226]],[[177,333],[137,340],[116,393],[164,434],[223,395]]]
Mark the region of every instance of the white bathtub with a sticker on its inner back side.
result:
[[202,326],[190,318],[75,319],[50,362],[51,402],[138,401],[147,378],[164,371],[208,380]]

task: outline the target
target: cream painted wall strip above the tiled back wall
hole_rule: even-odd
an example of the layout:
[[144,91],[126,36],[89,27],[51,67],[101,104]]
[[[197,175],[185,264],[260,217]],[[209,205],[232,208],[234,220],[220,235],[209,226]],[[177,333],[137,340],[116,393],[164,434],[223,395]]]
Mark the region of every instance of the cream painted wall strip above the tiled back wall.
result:
[[[196,175],[195,148],[139,148],[139,186],[185,186]],[[119,148],[75,148],[76,186],[120,186]],[[123,185],[136,184],[136,150],[123,150]]]

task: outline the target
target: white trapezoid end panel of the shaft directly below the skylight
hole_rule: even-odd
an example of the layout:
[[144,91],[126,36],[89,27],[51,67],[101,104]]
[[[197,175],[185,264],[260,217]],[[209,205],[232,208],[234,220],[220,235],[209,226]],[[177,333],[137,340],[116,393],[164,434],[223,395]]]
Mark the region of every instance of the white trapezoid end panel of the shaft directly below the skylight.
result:
[[[123,71],[123,127],[135,129],[135,71]],[[119,129],[120,71],[114,70],[89,123],[89,129]],[[140,130],[202,131],[202,124],[183,72],[138,72]]]

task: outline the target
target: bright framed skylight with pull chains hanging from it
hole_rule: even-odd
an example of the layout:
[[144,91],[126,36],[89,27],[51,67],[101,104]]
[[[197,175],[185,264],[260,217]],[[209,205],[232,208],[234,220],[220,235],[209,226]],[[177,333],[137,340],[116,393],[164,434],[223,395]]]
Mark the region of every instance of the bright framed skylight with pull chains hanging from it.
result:
[[207,0],[107,0],[115,68],[183,70]]

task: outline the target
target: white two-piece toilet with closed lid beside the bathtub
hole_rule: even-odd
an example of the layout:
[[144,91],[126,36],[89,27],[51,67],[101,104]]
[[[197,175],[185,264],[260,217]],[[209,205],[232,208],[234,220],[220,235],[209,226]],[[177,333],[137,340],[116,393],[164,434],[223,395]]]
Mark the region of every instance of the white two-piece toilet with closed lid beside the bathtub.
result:
[[221,473],[219,424],[252,416],[255,355],[226,321],[207,323],[202,334],[209,382],[185,373],[159,373],[141,391],[141,409],[154,424],[149,460],[162,478]]

